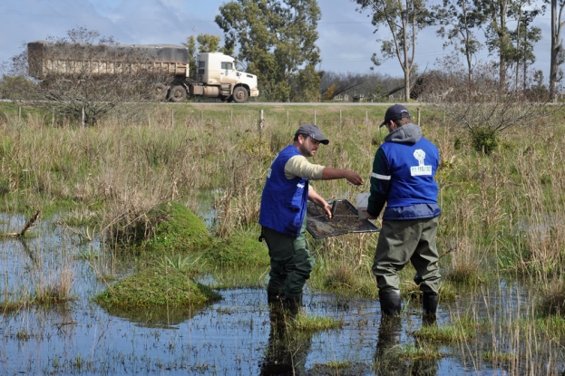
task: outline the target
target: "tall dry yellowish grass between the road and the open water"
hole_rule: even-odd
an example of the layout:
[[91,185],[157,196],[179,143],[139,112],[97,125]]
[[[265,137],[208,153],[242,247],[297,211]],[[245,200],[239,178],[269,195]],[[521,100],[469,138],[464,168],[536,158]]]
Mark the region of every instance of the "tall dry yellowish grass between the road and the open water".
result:
[[[258,108],[249,106],[147,106],[135,118],[116,115],[96,128],[64,121],[53,128],[51,116],[20,120],[8,114],[0,121],[4,208],[21,210],[24,203],[46,208],[47,216],[50,207],[53,212],[68,203],[73,210],[94,212],[92,228],[112,239],[165,200],[197,213],[201,202],[210,202],[217,235],[254,231],[270,161],[300,123],[314,120],[314,111],[331,143],[313,161],[357,170],[366,181],[361,188],[343,180],[314,186],[326,199],[355,202],[356,193],[369,189],[375,149],[385,138],[378,128],[385,106],[269,108],[263,128]],[[438,246],[441,254],[451,251],[441,261],[448,279],[482,280],[480,271],[492,266],[542,280],[548,271],[559,273],[565,244],[559,226],[565,212],[563,127],[514,126],[485,157],[472,150],[462,128],[440,115],[424,110],[422,123],[425,136],[441,150]],[[347,265],[348,271],[333,269],[337,281],[367,269],[375,238],[338,236],[311,242],[311,248],[317,257]]]

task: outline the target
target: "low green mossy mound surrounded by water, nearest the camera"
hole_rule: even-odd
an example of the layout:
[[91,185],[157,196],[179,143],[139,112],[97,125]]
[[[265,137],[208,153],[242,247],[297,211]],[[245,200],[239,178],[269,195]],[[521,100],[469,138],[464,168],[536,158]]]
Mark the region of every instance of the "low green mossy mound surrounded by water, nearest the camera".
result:
[[118,281],[94,301],[101,305],[203,305],[220,295],[175,269],[152,267]]

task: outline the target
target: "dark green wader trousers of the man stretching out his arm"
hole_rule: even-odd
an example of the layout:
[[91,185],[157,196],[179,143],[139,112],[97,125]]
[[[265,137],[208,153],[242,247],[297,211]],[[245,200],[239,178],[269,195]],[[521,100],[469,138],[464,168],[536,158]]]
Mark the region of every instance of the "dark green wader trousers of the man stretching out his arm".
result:
[[306,217],[300,236],[288,236],[268,227],[262,228],[262,236],[268,246],[271,270],[268,294],[284,294],[288,299],[299,299],[310,277],[314,259],[306,242]]

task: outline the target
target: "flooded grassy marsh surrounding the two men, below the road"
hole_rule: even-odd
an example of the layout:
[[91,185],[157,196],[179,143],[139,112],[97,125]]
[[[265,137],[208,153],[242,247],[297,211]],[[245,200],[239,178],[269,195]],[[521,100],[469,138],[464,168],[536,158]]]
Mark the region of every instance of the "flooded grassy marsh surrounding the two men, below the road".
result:
[[[304,311],[281,329],[257,240],[269,164],[316,122],[330,144],[314,161],[368,177],[386,106],[148,104],[83,128],[2,104],[0,232],[41,212],[24,236],[2,239],[2,370],[562,374],[563,115],[514,125],[486,153],[456,119],[408,107],[442,159],[437,324],[422,323],[409,265],[402,317],[380,323],[378,233],[360,233],[308,236],[316,265]],[[368,178],[315,186],[349,202],[369,189]]]

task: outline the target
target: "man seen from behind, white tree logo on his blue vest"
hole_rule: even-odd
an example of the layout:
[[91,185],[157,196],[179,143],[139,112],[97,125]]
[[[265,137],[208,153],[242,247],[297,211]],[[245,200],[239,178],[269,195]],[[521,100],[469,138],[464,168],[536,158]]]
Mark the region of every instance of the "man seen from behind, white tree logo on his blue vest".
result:
[[441,283],[435,235],[441,210],[433,177],[439,151],[422,137],[401,104],[386,111],[383,126],[389,134],[376,150],[367,205],[367,217],[375,219],[386,203],[373,264],[381,311],[385,317],[400,313],[398,272],[410,261],[422,292],[424,319],[435,320]]

